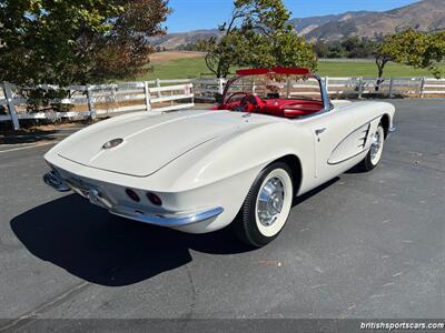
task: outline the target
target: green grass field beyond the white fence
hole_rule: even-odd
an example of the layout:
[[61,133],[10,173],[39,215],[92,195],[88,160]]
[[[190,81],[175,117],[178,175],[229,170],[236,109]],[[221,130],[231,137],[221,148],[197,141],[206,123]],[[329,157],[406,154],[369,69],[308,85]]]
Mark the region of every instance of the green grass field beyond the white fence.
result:
[[[445,64],[442,64],[445,71]],[[328,77],[375,77],[377,69],[374,62],[319,62],[317,72]],[[139,80],[154,79],[192,79],[209,73],[204,58],[177,59],[167,63],[154,64],[154,72]],[[385,77],[433,77],[427,70],[413,69],[407,65],[389,63]]]

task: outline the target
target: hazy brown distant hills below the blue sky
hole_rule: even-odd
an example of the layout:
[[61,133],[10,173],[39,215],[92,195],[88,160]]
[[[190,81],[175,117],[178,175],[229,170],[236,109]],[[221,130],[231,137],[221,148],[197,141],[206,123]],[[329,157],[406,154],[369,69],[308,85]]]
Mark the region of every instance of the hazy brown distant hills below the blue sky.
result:
[[[289,23],[295,26],[297,33],[312,41],[335,41],[350,36],[374,38],[407,28],[429,32],[445,29],[445,0],[423,0],[383,12],[349,11],[340,14],[296,18]],[[169,33],[151,41],[155,46],[176,49],[218,34],[220,32],[217,29],[197,30]]]

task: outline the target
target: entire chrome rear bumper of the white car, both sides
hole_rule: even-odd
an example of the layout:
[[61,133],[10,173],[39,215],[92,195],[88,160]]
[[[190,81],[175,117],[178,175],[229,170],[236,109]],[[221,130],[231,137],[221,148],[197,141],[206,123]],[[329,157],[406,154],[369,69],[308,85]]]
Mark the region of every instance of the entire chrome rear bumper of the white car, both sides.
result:
[[44,174],[43,181],[59,192],[67,192],[72,189],[78,194],[88,198],[91,203],[107,209],[111,214],[148,224],[170,228],[185,226],[210,220],[224,212],[222,208],[217,206],[208,210],[188,213],[146,213],[135,208],[113,205],[107,198],[102,196],[100,191],[98,191],[97,189],[89,189],[88,191],[85,189],[78,189],[73,184],[63,181],[60,175],[57,174],[57,172],[55,171]]

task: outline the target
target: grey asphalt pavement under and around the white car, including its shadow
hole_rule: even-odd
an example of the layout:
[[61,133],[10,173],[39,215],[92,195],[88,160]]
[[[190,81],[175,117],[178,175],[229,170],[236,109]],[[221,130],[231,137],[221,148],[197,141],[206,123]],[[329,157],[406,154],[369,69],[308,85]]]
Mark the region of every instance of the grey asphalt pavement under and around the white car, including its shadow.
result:
[[52,143],[2,145],[0,317],[443,317],[445,100],[393,103],[382,165],[305,195],[256,251],[56,193],[41,182]]

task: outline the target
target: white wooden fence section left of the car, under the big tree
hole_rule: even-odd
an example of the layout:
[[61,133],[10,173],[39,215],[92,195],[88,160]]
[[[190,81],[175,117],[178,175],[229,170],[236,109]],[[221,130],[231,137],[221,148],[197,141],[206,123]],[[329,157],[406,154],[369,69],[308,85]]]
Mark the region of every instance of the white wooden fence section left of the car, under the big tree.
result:
[[95,119],[129,111],[164,112],[195,105],[190,80],[72,85],[66,88],[70,98],[53,101],[59,104],[69,104],[72,111],[68,112],[28,112],[27,103],[29,101],[21,97],[20,92],[30,89],[55,90],[59,88],[48,84],[23,88],[8,82],[0,83],[0,121],[11,121],[14,130],[18,130],[20,120],[26,119],[56,120],[79,117]]

